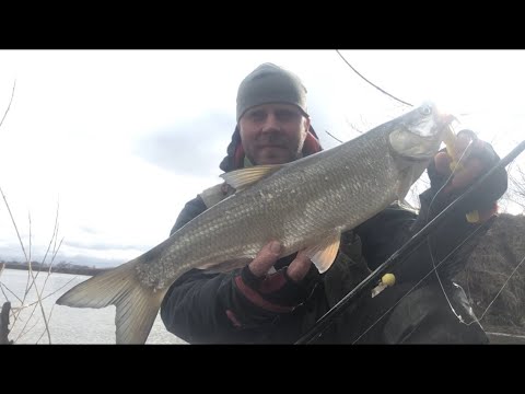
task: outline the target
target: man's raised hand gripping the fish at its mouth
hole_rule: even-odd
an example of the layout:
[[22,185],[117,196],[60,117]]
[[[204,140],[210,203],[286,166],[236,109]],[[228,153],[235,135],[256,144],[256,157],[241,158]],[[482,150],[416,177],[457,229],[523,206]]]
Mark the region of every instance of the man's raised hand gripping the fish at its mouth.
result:
[[[486,174],[499,159],[490,143],[478,139],[470,130],[459,131],[455,141],[454,158],[444,149],[434,157],[427,169],[433,195],[439,192],[432,201],[433,207],[430,207],[431,212],[445,208]],[[451,169],[453,161],[458,162],[454,174]],[[477,221],[486,221],[497,212],[497,201],[506,192],[506,187],[508,174],[502,167],[464,201],[463,212],[477,211]]]

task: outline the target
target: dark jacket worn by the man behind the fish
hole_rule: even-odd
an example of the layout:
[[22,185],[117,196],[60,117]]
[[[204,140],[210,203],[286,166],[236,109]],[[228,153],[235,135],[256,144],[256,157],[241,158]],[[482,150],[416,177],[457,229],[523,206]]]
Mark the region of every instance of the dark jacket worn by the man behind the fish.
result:
[[[230,159],[235,154],[231,148]],[[432,171],[429,169],[429,174]],[[490,224],[490,221],[468,223],[465,213],[501,197],[506,189],[506,173],[498,176],[497,190],[487,192],[482,200],[478,196],[465,201],[458,215],[393,268],[395,286],[374,298],[362,293],[324,333],[319,343],[486,343],[481,326],[468,324],[475,316],[463,290],[452,278],[464,268]],[[162,302],[161,317],[166,328],[192,344],[294,343],[440,211],[429,211],[431,201],[432,207],[446,206],[446,200],[433,200],[441,186],[435,179],[434,176],[432,187],[420,196],[420,215],[395,204],[345,233],[330,269],[319,275],[312,266],[298,286],[295,290],[302,293],[303,301],[292,312],[268,312],[253,305],[235,282],[242,269],[228,274],[192,269],[173,283]],[[172,233],[206,209],[201,196],[188,201]],[[276,269],[287,266],[293,257],[278,260]],[[438,277],[432,269],[442,260]],[[229,311],[243,312],[241,324],[232,322]]]

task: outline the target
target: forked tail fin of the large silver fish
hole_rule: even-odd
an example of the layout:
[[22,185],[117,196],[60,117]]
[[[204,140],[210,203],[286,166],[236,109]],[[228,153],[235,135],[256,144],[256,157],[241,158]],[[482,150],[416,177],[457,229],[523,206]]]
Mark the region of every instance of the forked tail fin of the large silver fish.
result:
[[116,306],[117,344],[144,344],[156,318],[165,289],[145,288],[136,277],[139,259],[98,274],[71,288],[56,303],[73,308]]

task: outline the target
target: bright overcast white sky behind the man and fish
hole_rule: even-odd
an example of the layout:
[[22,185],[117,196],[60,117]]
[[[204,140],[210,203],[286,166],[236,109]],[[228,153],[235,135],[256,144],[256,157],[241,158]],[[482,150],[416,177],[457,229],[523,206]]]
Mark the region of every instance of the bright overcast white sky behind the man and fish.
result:
[[[432,100],[505,155],[523,139],[523,50],[341,50],[371,82]],[[0,187],[32,258],[115,266],[170,233],[221,179],[242,79],[271,61],[308,90],[325,148],[409,109],[336,50],[0,50]],[[523,158],[520,157],[523,162]],[[30,225],[31,216],[31,225]],[[23,259],[3,199],[0,259]]]

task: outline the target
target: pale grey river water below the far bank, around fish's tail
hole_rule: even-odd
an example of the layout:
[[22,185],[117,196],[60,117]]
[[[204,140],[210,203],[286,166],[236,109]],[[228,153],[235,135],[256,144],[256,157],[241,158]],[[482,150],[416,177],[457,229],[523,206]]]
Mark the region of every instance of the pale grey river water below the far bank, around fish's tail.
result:
[[[83,275],[40,273],[36,278],[43,299],[40,308],[34,286],[23,300],[28,271],[4,269],[0,275],[0,308],[5,299],[11,302],[9,339],[15,344],[115,344],[115,306],[84,309],[55,304],[68,289],[88,278]],[[18,314],[22,301],[25,308]],[[18,318],[13,313],[18,314]],[[158,315],[145,344],[186,343],[168,333]]]

